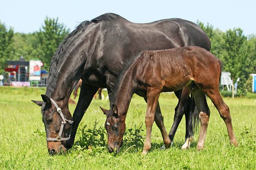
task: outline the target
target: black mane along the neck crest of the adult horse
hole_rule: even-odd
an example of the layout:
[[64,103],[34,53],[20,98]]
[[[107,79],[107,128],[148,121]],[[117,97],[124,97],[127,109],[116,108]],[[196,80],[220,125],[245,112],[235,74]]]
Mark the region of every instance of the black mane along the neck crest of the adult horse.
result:
[[119,19],[119,18],[120,18],[120,16],[117,14],[113,14],[113,13],[103,14],[103,15],[96,17],[95,19],[92,19],[91,21],[81,22],[78,26],[76,26],[76,29],[74,29],[74,31],[72,31],[68,34],[68,36],[63,40],[63,42],[60,43],[57,51],[55,52],[54,56],[52,57],[51,65],[50,65],[50,69],[49,69],[49,76],[47,78],[47,83],[46,83],[46,87],[47,87],[46,96],[51,97],[52,93],[54,92],[54,88],[56,87],[57,79],[58,79],[57,64],[58,64],[58,60],[60,59],[60,56],[62,55],[63,51],[65,51],[65,44],[66,44],[66,42],[68,42],[68,39],[70,37],[73,37],[79,31],[85,31],[85,29],[87,28],[87,25],[89,23],[106,22],[106,21],[110,21],[113,19]]

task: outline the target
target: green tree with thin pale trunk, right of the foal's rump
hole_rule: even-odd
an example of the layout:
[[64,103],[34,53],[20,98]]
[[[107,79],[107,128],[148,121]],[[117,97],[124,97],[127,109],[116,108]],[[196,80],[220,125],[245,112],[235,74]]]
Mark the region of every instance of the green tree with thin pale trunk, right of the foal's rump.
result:
[[[221,59],[224,63],[224,70],[231,73],[232,97],[234,97],[234,82],[238,77],[244,79],[250,49],[248,48],[247,37],[243,35],[240,28],[229,29],[223,36],[224,45]],[[241,83],[241,82],[240,82]]]

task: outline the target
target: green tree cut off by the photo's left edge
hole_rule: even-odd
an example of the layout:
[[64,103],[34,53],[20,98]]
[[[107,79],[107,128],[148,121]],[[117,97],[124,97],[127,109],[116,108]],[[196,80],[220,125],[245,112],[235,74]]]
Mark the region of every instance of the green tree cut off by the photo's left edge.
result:
[[13,51],[13,28],[6,28],[0,21],[0,73],[3,73],[6,60],[11,58]]

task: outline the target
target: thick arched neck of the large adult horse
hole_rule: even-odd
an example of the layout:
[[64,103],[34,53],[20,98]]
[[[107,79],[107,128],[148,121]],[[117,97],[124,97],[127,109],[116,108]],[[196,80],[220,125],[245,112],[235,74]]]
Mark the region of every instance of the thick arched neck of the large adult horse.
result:
[[81,23],[62,42],[51,61],[47,78],[46,95],[57,102],[68,102],[76,83],[84,73],[84,65],[89,55],[88,47],[93,43],[85,41],[89,31],[88,22]]

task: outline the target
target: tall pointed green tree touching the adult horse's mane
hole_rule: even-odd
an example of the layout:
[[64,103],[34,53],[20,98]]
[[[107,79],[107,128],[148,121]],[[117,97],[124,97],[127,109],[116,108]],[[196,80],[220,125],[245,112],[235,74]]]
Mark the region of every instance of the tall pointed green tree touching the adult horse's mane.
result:
[[49,70],[52,56],[60,43],[70,32],[63,23],[58,23],[57,19],[46,17],[44,25],[37,32],[38,36],[38,56],[44,62],[44,68]]

